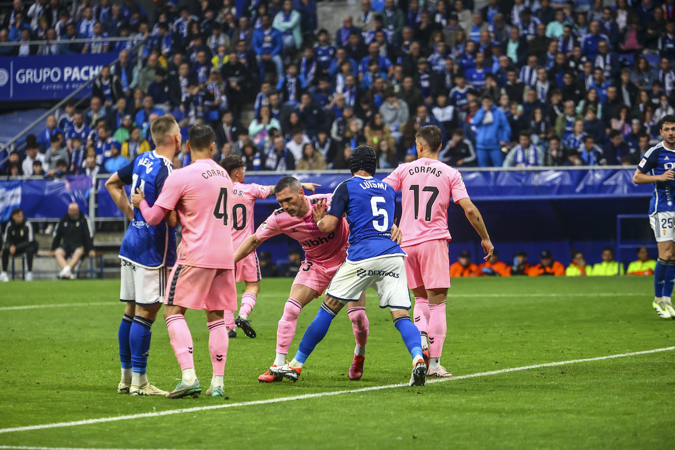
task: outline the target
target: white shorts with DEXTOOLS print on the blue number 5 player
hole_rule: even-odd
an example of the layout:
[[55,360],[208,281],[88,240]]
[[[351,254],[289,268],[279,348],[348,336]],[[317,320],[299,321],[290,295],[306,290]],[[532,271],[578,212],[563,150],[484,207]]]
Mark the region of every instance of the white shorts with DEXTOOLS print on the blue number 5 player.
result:
[[385,256],[365,261],[345,261],[326,289],[326,295],[340,302],[358,302],[361,293],[372,287],[380,308],[410,309],[410,293],[403,256]]

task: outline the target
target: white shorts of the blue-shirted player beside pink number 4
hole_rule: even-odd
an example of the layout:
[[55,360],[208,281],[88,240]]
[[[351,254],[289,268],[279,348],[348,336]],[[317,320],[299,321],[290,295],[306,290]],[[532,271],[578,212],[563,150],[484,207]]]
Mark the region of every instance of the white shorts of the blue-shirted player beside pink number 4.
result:
[[137,305],[156,305],[164,300],[167,287],[167,268],[145,269],[121,260],[119,301]]

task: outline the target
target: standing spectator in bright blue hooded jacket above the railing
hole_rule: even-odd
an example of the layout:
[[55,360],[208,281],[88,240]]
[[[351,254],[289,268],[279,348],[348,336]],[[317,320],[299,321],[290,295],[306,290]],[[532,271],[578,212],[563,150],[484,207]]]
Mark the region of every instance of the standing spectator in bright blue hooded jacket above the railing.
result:
[[501,167],[504,163],[502,147],[511,139],[511,128],[506,115],[495,106],[491,97],[483,97],[483,107],[472,117],[476,127],[476,152],[479,167]]

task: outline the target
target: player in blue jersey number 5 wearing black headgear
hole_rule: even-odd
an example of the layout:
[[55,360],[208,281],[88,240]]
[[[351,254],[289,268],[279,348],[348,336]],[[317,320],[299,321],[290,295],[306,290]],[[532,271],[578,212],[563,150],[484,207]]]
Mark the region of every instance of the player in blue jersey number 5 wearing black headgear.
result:
[[326,296],[317,316],[307,327],[298,353],[290,363],[270,368],[275,375],[298,381],[302,365],[317,344],[325,337],[333,318],[348,302],[356,302],[361,293],[373,287],[379,296],[380,308],[389,308],[394,326],[401,333],[410,356],[410,386],[423,386],[427,365],[422,356],[419,330],[410,320],[410,293],[404,265],[405,253],[398,242],[394,225],[396,192],[388,184],[373,178],[377,157],[369,146],[358,146],[350,157],[352,177],[335,188],[326,211],[317,204],[312,217],[323,233],[330,233],[346,215],[349,223],[347,260],[335,273],[326,289]]

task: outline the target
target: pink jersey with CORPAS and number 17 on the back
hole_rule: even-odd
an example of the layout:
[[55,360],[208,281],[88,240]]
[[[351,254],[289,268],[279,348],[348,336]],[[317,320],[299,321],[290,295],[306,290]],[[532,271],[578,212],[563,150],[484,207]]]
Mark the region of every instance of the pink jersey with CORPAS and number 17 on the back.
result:
[[402,192],[401,223],[403,246],[437,239],[450,240],[448,206],[468,198],[457,169],[436,159],[422,158],[398,166],[385,179]]

